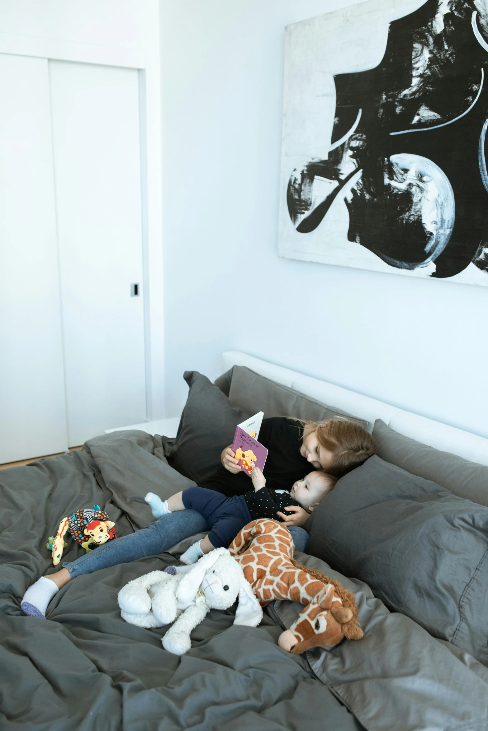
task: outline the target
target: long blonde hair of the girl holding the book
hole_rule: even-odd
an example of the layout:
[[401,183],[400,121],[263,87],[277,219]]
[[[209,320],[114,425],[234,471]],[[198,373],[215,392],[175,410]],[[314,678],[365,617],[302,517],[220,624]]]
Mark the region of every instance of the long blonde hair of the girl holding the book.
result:
[[366,429],[343,417],[317,422],[303,420],[302,439],[315,432],[320,447],[331,452],[332,461],[327,471],[334,477],[342,477],[361,466],[378,451],[378,445]]

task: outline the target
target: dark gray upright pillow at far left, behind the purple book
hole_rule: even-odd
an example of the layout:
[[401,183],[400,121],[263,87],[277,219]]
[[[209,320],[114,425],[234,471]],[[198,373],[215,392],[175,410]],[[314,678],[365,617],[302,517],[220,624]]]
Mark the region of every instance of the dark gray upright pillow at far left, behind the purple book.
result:
[[232,444],[236,426],[249,413],[231,406],[227,396],[198,371],[185,371],[189,385],[174,444],[165,447],[168,463],[198,484],[219,469],[220,453]]

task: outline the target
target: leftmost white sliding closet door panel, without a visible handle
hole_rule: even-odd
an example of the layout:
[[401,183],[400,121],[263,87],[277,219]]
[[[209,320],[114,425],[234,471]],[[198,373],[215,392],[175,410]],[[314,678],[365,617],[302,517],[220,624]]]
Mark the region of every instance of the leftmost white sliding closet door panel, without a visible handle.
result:
[[0,463],[67,449],[48,61],[0,54]]

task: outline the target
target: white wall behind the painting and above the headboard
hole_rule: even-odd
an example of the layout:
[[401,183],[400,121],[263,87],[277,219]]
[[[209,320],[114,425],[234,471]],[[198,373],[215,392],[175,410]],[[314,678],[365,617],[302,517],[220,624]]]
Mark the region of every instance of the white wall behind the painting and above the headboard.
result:
[[167,415],[239,349],[488,436],[488,289],[279,259],[285,25],[341,0],[161,0]]

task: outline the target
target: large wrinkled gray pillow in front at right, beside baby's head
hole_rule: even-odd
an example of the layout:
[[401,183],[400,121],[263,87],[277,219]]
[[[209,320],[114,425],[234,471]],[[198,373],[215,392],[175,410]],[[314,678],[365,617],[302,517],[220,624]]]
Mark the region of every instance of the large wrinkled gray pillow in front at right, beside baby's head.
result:
[[377,455],[314,510],[307,553],[488,665],[488,508]]

